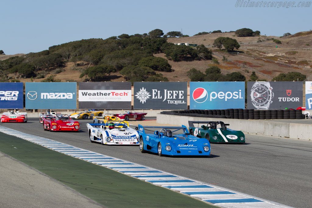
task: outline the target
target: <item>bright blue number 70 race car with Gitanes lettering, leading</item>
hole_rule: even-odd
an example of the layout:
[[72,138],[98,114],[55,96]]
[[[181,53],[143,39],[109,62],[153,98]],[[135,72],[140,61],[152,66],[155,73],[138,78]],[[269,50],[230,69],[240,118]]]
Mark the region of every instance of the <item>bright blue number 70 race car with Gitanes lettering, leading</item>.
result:
[[[157,128],[152,133],[147,128]],[[206,138],[198,138],[188,133],[188,128],[182,126],[142,126],[139,124],[140,151],[163,155],[210,155],[210,143]],[[153,131],[153,130],[152,130]]]

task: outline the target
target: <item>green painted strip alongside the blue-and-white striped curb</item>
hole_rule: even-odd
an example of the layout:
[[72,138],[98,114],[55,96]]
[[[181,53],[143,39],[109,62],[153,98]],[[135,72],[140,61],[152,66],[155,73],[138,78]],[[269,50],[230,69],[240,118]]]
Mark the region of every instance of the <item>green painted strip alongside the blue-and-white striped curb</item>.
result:
[[217,207],[1,132],[0,151],[107,207]]

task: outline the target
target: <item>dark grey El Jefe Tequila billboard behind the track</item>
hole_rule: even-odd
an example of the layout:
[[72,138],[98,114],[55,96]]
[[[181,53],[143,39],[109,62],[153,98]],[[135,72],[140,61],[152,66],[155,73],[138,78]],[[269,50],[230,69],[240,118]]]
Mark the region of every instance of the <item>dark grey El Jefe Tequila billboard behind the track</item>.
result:
[[134,109],[187,109],[187,82],[134,82]]

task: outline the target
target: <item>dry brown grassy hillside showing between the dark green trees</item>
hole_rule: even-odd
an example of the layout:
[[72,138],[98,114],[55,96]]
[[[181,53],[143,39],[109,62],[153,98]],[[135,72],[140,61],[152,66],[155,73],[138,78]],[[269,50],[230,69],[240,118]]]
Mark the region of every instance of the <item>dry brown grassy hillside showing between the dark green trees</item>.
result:
[[[213,41],[217,37],[230,37],[236,39],[241,45],[238,55],[224,53],[212,47]],[[282,43],[276,44],[271,38],[278,39]],[[261,42],[258,42],[261,40]],[[213,57],[218,59],[219,64],[214,64],[212,60],[201,61],[178,61],[168,60],[172,66],[173,72],[162,72],[169,81],[190,81],[186,76],[186,72],[192,68],[205,72],[212,65],[217,65],[223,74],[235,71],[241,72],[248,80],[251,72],[256,71],[259,79],[271,79],[280,73],[300,72],[307,76],[307,80],[311,76],[311,57],[312,57],[312,31],[296,33],[292,36],[257,36],[257,37],[236,37],[235,33],[213,33],[192,37],[168,38],[168,42],[172,43],[189,43],[203,44],[212,49]],[[277,48],[276,48],[277,46]],[[154,56],[163,57],[165,54],[154,54]],[[0,60],[3,56],[0,55]],[[67,63],[65,71],[56,74],[56,79],[61,81],[81,81],[79,79],[80,71],[72,70],[72,63]],[[83,68],[83,67],[81,67]],[[77,68],[76,68],[77,69]],[[312,76],[311,76],[312,79]],[[34,79],[33,81],[41,81],[42,79]],[[30,79],[21,79],[23,82],[29,82]],[[125,81],[119,73],[110,75],[107,81]]]

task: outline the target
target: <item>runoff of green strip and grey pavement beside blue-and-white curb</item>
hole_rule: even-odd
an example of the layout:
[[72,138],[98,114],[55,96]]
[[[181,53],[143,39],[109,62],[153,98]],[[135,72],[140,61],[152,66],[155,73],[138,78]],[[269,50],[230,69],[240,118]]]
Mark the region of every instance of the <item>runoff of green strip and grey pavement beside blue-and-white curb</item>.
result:
[[0,207],[217,207],[0,133]]

